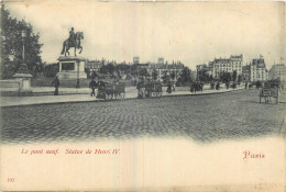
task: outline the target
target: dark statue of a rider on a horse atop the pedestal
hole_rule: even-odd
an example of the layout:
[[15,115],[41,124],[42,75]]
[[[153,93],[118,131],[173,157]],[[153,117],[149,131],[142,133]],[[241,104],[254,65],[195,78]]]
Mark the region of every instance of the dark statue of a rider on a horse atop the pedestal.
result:
[[62,55],[65,54],[65,56],[66,56],[66,53],[68,53],[68,55],[69,55],[68,50],[70,47],[75,47],[75,56],[77,56],[77,53],[76,53],[77,48],[80,49],[79,54],[81,54],[82,47],[80,46],[80,39],[84,39],[84,33],[82,32],[75,33],[74,27],[72,27],[72,30],[69,31],[68,39],[66,39],[63,43],[63,50],[61,54]]

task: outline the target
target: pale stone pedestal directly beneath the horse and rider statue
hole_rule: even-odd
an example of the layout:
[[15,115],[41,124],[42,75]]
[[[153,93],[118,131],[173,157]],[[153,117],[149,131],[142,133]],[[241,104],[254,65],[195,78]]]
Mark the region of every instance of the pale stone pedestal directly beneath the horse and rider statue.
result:
[[73,57],[73,56],[61,56],[59,72],[57,74],[58,79],[86,79],[87,74],[85,72],[85,58]]

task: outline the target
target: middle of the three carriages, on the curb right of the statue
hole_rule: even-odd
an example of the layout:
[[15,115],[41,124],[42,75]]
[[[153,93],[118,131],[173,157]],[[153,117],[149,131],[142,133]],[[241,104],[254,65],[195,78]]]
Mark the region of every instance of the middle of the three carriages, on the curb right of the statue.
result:
[[139,82],[139,98],[161,98],[162,84],[158,81]]

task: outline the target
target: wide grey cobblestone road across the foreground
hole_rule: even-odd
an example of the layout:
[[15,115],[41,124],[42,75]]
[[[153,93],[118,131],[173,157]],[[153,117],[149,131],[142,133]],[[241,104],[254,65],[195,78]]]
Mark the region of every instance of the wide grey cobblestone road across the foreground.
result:
[[188,137],[197,142],[282,135],[285,103],[257,90],[161,99],[2,108],[3,143]]

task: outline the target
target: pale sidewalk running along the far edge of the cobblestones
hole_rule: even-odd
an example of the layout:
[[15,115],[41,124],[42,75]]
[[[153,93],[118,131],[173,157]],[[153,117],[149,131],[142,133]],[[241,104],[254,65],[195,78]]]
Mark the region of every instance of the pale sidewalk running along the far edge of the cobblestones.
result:
[[[221,89],[210,90],[206,89],[204,92],[191,93],[187,87],[176,88],[175,92],[170,94],[166,92],[166,88],[163,87],[162,97],[175,97],[175,95],[201,95],[201,94],[215,94],[223,93],[230,91],[241,90],[238,89]],[[95,97],[90,97],[90,89],[81,88],[62,88],[59,89],[59,95],[51,95],[51,91],[54,91],[54,88],[33,88],[34,97],[2,97],[0,106],[16,106],[16,105],[31,105],[31,104],[52,104],[52,103],[68,103],[68,102],[95,102],[101,101]],[[125,99],[136,99],[138,90],[134,87],[125,88]]]

